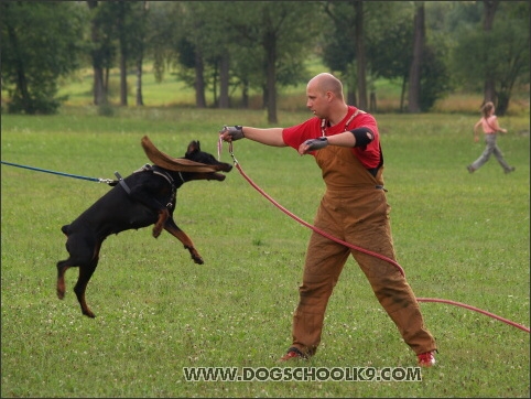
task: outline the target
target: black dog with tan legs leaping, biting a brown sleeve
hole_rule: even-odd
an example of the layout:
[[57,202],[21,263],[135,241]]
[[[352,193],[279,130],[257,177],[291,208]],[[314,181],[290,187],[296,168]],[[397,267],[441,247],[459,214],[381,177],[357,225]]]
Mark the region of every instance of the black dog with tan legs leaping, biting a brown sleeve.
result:
[[[218,162],[209,153],[201,151],[198,141],[188,144],[184,159],[209,165],[209,170],[229,172],[232,169],[230,164]],[[147,164],[117,182],[115,187],[72,224],[63,226],[69,258],[57,262],[57,296],[65,296],[66,270],[79,267],[74,291],[83,314],[95,317],[85,301],[85,291],[98,265],[101,244],[111,234],[139,229],[152,224],[153,237],[159,237],[164,228],[183,242],[194,262],[202,265],[203,258],[194,248],[194,244],[173,220],[176,190],[193,180],[224,181],[225,175],[216,172],[174,172]]]

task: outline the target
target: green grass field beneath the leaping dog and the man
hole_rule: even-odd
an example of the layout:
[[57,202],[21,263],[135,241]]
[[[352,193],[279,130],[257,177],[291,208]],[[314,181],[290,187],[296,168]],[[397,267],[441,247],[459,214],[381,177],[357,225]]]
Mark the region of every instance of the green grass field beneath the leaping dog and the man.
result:
[[[281,125],[307,112],[279,112]],[[386,186],[398,260],[418,296],[442,298],[530,326],[529,114],[500,118],[499,138],[517,168],[495,159],[474,174],[477,115],[380,115]],[[90,107],[57,116],[2,115],[1,159],[93,177],[148,162],[140,139],[174,157],[198,139],[216,153],[224,123],[267,126],[261,110]],[[528,133],[523,133],[528,131]],[[323,193],[313,159],[291,149],[235,143],[245,172],[307,222]],[[223,159],[230,161],[227,145]],[[59,228],[109,188],[105,184],[2,165],[2,397],[525,397],[529,333],[483,314],[422,303],[437,366],[419,382],[187,382],[183,367],[277,367],[290,344],[291,315],[310,230],[285,216],[234,170],[227,180],[178,192],[177,224],[205,265],[151,229],[104,244],[87,290],[95,320],[80,314]],[[299,364],[300,365],[300,364]],[[304,366],[415,366],[412,352],[349,260],[330,299],[323,342]],[[282,366],[283,367],[283,366]]]

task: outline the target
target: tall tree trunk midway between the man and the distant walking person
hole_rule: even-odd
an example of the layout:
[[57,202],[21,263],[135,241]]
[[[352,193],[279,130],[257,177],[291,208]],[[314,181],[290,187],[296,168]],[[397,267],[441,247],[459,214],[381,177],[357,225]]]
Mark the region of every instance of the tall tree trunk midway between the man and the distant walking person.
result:
[[408,110],[410,112],[420,112],[421,97],[421,64],[422,50],[424,48],[424,2],[420,1],[416,6],[414,18],[414,44],[413,60],[410,67],[409,93],[408,93]]

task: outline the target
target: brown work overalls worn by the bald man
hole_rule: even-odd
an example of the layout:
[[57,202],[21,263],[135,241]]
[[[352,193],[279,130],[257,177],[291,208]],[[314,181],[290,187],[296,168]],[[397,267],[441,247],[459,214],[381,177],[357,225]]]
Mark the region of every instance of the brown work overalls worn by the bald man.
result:
[[[326,183],[315,226],[340,240],[395,260],[390,206],[381,188],[383,166],[375,177],[349,148],[335,145],[317,151],[315,159]],[[378,301],[397,324],[404,342],[418,355],[435,351],[435,341],[424,326],[415,295],[395,266],[315,231],[308,242],[303,282],[299,288],[292,346],[307,356],[317,351],[326,305],[349,254],[367,276]]]

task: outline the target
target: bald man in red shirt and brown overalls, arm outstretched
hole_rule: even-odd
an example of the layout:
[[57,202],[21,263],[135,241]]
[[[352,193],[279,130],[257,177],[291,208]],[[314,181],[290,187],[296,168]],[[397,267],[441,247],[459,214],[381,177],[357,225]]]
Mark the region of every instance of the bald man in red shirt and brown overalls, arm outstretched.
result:
[[[394,260],[383,190],[383,157],[375,118],[348,106],[342,83],[330,74],[313,77],[306,106],[314,118],[290,128],[224,127],[224,141],[242,138],[273,147],[290,145],[312,154],[322,170],[326,192],[315,227],[357,247]],[[299,305],[293,315],[293,343],[281,360],[308,358],[321,342],[328,299],[351,254],[380,304],[395,323],[421,366],[435,364],[436,345],[425,328],[415,295],[395,266],[312,233]]]

